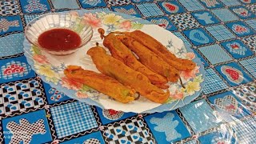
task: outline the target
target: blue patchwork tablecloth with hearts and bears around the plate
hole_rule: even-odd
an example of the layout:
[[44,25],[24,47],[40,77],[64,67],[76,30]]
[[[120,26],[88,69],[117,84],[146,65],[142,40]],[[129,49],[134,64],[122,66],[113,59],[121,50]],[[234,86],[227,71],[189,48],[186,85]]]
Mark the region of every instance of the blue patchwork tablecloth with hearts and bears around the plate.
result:
[[[23,54],[26,24],[79,9],[170,30],[204,63],[202,94],[177,110],[134,114],[77,102],[42,82]],[[256,0],[1,0],[0,143],[256,143],[255,12]]]

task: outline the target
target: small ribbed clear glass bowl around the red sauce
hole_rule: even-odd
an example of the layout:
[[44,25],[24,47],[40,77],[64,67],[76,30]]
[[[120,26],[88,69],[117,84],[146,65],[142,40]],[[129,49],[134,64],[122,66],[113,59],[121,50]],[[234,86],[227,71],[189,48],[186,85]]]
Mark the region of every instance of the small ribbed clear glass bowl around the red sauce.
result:
[[[49,50],[38,44],[38,37],[46,30],[52,29],[68,29],[77,33],[81,38],[80,46],[70,50]],[[85,19],[69,13],[54,13],[44,14],[38,18],[34,18],[27,26],[25,30],[26,39],[43,50],[46,50],[50,54],[54,55],[66,55],[72,54],[82,46],[85,46],[93,36],[92,27],[86,22]]]

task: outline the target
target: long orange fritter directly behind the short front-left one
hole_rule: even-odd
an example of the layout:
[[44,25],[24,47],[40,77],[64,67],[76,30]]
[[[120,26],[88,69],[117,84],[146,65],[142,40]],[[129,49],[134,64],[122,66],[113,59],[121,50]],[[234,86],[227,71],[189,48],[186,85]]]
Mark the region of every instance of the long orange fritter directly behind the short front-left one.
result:
[[165,92],[157,86],[154,86],[144,74],[131,69],[123,62],[106,54],[106,50],[102,47],[92,47],[87,51],[87,54],[90,55],[97,69],[102,72],[102,74],[117,79],[125,86],[130,86],[151,101],[163,103],[169,98],[169,90]]

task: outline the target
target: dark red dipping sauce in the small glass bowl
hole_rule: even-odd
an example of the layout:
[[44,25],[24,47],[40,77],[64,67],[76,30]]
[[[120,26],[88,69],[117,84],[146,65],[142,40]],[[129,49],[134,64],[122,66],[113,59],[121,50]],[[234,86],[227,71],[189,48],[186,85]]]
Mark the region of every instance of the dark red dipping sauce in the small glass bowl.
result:
[[47,50],[72,50],[81,45],[80,36],[68,29],[47,30],[39,35],[38,44]]

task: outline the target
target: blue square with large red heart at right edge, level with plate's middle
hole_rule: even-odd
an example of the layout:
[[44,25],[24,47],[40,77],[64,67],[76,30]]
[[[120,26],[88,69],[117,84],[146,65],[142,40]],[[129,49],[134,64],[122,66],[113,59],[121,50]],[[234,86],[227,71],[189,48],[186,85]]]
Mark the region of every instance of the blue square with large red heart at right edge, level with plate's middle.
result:
[[226,65],[216,66],[216,70],[229,82],[230,86],[239,86],[253,79],[237,63],[231,62]]

